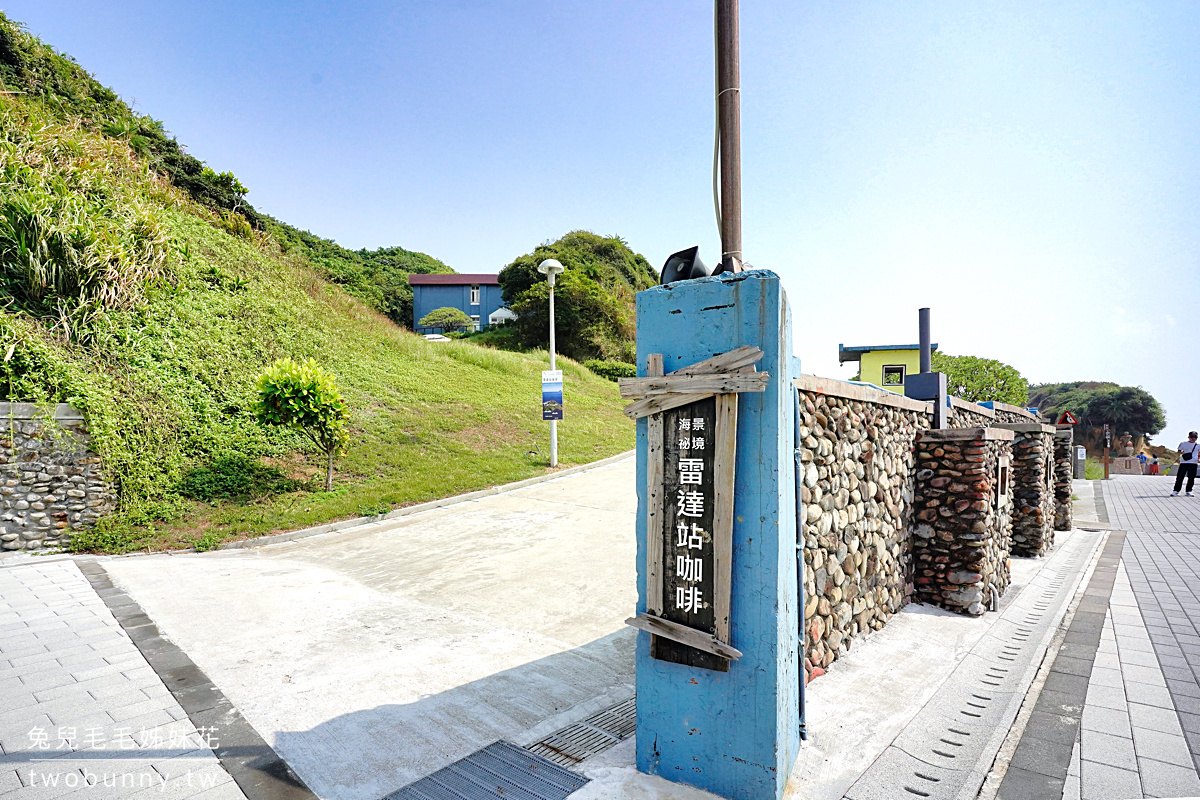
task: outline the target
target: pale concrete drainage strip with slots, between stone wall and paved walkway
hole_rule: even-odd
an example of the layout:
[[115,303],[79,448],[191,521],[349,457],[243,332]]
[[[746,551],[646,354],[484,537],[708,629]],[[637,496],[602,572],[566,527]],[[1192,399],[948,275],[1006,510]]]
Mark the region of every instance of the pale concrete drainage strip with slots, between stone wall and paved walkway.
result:
[[1066,537],[847,800],[976,796],[1103,535]]

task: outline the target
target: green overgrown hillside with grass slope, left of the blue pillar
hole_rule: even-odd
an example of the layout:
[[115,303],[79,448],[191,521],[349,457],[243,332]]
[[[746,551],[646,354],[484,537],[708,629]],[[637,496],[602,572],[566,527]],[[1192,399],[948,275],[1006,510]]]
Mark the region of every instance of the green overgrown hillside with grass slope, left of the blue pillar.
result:
[[[0,395],[86,414],[120,512],[78,548],[211,547],[546,471],[545,353],[431,344],[382,313],[403,315],[398,276],[444,264],[258,212],[2,16],[0,79],[28,92],[0,95]],[[331,371],[349,407],[332,492],[250,410],[284,356]],[[616,386],[560,363],[562,461],[632,446]]]

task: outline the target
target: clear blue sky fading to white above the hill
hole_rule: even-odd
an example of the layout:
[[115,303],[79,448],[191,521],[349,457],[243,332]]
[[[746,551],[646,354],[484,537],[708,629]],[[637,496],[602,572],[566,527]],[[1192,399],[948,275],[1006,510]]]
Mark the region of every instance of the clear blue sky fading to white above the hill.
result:
[[[250,200],[496,271],[586,228],[716,258],[708,2],[0,0]],[[1200,4],[742,7],[745,252],[805,372],[916,341],[1200,427]]]

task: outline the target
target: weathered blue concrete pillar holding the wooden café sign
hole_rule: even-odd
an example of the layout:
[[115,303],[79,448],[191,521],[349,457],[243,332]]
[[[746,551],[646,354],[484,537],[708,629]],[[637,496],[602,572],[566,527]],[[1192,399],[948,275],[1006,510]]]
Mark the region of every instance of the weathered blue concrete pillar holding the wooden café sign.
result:
[[[738,399],[728,672],[650,656],[637,639],[637,769],[734,800],[778,800],[800,742],[796,396],[791,312],[766,270],[637,295],[637,368],[666,373],[742,345],[762,348],[763,393]],[[668,434],[670,435],[670,434]],[[637,422],[637,612],[646,612],[647,421]]]

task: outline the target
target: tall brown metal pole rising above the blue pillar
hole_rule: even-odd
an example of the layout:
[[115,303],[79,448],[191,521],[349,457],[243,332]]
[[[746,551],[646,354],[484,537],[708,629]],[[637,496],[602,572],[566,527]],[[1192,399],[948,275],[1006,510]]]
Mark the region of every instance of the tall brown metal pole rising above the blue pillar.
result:
[[742,270],[742,71],[738,0],[716,0],[716,108],[721,143],[721,263]]

